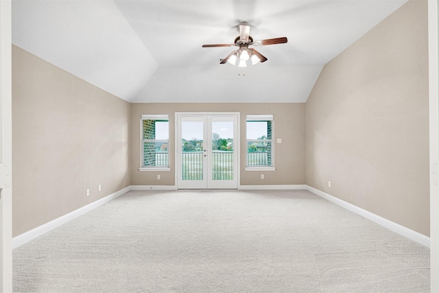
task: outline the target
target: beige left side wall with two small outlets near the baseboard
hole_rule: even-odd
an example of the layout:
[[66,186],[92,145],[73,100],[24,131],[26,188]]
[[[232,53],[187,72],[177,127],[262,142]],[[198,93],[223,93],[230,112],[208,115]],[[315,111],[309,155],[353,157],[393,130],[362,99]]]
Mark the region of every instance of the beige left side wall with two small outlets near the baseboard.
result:
[[16,46],[12,67],[16,236],[130,185],[130,104]]

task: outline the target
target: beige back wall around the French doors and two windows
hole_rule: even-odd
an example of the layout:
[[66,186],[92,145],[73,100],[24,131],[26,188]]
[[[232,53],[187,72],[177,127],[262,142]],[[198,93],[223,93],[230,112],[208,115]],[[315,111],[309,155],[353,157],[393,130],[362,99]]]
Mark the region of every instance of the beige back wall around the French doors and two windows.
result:
[[[178,97],[176,97],[178,99]],[[305,104],[131,104],[131,184],[175,185],[175,122],[176,112],[239,112],[241,113],[241,185],[298,185],[305,184]],[[142,114],[169,115],[170,172],[140,172],[140,119]],[[245,171],[246,115],[273,114],[274,162],[276,171]],[[260,174],[265,175],[261,180]],[[161,180],[156,175],[161,174]]]

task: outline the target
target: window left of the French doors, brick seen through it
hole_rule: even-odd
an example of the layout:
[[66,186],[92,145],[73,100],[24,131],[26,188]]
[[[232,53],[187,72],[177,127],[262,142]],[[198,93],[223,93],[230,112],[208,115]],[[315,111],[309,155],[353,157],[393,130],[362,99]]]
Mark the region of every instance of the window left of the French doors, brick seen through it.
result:
[[141,141],[142,163],[140,170],[168,170],[168,115],[142,115]]

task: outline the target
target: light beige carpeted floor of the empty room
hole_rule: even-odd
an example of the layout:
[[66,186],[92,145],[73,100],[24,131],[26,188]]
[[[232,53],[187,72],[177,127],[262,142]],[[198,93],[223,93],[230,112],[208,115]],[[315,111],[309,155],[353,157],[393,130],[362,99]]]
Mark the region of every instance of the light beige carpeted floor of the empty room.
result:
[[429,292],[429,249],[309,191],[130,191],[14,250],[14,292]]

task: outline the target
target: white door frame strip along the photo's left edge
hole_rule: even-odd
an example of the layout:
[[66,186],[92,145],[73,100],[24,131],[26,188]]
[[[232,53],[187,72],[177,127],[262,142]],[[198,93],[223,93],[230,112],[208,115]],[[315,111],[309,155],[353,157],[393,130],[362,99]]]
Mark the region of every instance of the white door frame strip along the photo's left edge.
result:
[[0,0],[0,292],[12,292],[12,12]]

